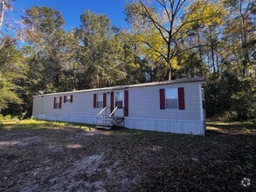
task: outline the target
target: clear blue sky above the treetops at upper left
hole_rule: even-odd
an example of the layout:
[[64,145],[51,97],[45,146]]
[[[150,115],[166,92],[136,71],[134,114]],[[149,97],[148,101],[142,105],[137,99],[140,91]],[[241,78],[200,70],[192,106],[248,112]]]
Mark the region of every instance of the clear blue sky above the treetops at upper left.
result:
[[126,0],[16,0],[15,12],[9,12],[8,16],[19,19],[22,10],[34,5],[47,6],[61,12],[66,22],[64,28],[70,31],[80,25],[80,15],[84,10],[91,10],[98,14],[106,14],[112,25],[124,28],[128,26],[123,13],[125,2]]

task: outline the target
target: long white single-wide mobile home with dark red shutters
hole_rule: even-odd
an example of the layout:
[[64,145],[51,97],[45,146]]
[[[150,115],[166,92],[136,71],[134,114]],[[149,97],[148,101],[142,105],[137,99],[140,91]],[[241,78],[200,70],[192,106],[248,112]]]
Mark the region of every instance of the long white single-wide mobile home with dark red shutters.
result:
[[34,96],[33,116],[131,129],[204,134],[204,78]]

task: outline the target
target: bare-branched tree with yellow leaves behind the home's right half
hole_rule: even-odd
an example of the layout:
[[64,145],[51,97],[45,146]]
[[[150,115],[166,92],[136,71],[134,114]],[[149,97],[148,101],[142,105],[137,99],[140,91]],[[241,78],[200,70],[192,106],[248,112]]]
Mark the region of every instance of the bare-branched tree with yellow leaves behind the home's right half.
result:
[[[149,3],[149,1],[146,0],[139,0],[138,3],[134,4],[135,6],[139,6],[139,9],[134,9],[134,13],[145,17],[153,24],[158,35],[163,40],[164,51],[157,49],[154,45],[150,44],[149,41],[144,41],[144,43],[164,59],[169,68],[169,80],[172,79],[173,60],[176,59],[176,56],[183,51],[194,48],[179,46],[183,42],[187,25],[210,20],[211,17],[218,15],[219,11],[206,11],[204,15],[185,17],[183,19],[182,16],[185,12],[184,7],[187,6],[186,0],[155,0],[153,3]],[[138,22],[136,21],[135,23]]]

